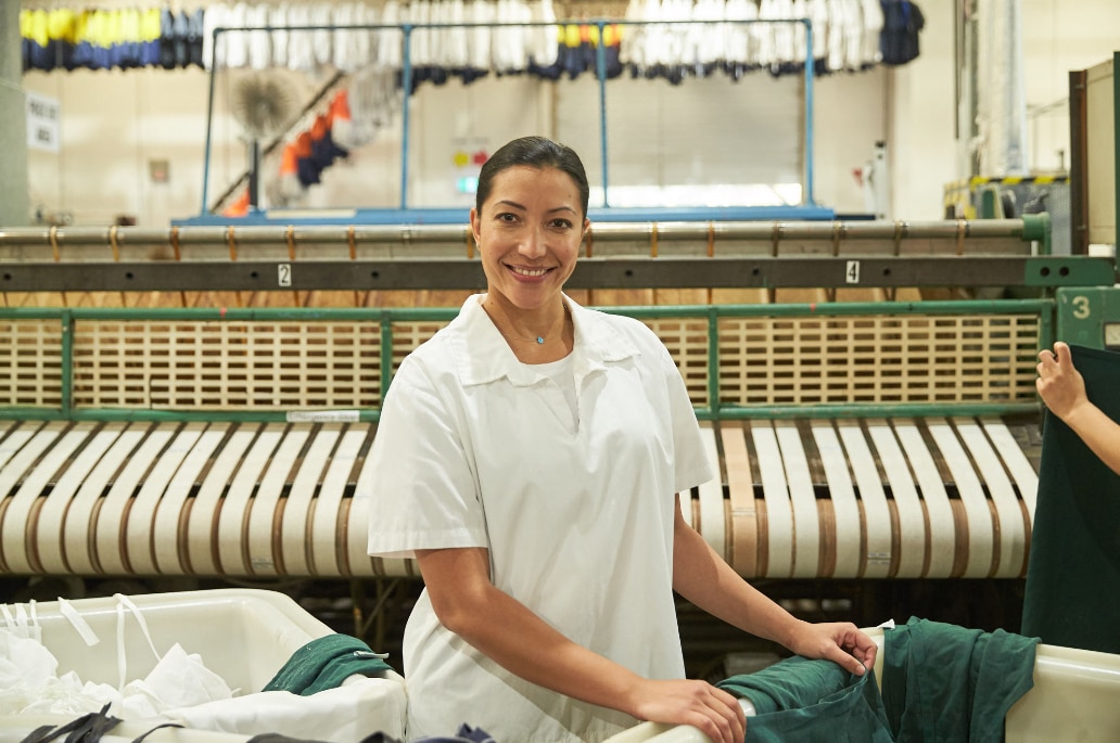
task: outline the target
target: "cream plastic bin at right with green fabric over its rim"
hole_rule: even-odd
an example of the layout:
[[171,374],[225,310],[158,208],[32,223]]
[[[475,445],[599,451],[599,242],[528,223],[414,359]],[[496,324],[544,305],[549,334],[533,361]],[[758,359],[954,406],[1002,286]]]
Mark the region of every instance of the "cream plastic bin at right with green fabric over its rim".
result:
[[[878,681],[883,678],[883,630],[864,631],[879,646],[875,659]],[[1007,743],[1120,741],[1120,656],[1039,643],[1035,685],[1007,711],[1005,732]],[[646,742],[711,743],[711,739],[691,725],[641,723],[606,741]]]

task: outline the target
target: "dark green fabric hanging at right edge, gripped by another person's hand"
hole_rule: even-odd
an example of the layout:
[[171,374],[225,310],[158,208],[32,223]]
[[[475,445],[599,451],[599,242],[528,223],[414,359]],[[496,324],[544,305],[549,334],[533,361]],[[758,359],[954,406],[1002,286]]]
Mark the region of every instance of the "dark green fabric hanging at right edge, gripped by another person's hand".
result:
[[[1120,421],[1120,354],[1071,346],[1089,398]],[[1120,477],[1046,413],[1023,633],[1120,652]]]

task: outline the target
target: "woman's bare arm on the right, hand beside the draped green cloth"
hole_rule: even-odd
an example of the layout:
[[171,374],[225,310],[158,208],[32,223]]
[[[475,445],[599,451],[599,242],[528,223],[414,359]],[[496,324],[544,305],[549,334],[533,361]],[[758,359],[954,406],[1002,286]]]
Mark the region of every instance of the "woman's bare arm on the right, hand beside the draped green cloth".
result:
[[875,641],[855,624],[800,620],[740,577],[684,520],[680,496],[673,530],[673,589],[697,606],[799,656],[832,660],[859,676],[874,665]]

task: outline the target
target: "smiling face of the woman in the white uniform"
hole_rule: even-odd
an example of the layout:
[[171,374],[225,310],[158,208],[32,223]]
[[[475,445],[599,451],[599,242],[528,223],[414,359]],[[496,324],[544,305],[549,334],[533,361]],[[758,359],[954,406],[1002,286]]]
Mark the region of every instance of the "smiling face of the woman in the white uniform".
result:
[[562,170],[514,166],[494,176],[482,213],[470,210],[488,291],[523,310],[547,304],[575,270],[588,224]]

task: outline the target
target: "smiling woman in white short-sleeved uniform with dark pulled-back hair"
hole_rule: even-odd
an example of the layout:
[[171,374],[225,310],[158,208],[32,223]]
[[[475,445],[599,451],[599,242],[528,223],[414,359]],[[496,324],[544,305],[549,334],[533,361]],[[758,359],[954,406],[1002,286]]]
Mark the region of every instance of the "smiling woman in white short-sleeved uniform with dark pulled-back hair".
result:
[[404,631],[410,739],[601,741],[652,720],[743,741],[720,689],[684,679],[673,590],[790,650],[862,674],[849,623],[794,619],[681,514],[712,477],[680,373],[641,322],[562,293],[588,184],[543,138],[483,167],[470,227],[487,291],[400,367],[372,457],[370,554],[416,556]]

